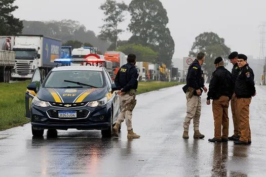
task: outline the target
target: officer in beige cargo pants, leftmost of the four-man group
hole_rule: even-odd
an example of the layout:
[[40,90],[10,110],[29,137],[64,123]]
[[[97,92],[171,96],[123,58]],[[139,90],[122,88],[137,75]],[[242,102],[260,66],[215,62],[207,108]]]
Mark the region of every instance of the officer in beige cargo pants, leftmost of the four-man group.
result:
[[[186,96],[186,116],[183,122],[183,138],[188,139],[188,128],[193,119],[194,136],[193,138],[204,138],[199,131],[200,116],[201,116],[201,94],[203,90],[207,92],[202,77],[201,65],[204,63],[205,54],[200,52],[197,59],[188,67],[186,76],[186,85],[182,88]],[[203,90],[202,90],[202,89]]]

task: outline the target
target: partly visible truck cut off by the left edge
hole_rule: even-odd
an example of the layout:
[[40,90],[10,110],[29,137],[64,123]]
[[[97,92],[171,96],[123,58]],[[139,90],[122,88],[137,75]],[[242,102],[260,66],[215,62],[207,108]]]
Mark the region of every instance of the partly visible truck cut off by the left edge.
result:
[[0,82],[11,80],[11,70],[15,66],[15,52],[12,50],[11,38],[0,36]]

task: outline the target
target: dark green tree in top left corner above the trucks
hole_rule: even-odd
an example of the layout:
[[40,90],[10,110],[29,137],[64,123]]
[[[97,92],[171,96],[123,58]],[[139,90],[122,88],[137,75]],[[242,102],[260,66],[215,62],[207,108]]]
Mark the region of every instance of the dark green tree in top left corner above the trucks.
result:
[[0,34],[2,35],[12,35],[22,32],[23,22],[11,14],[18,9],[18,6],[13,6],[14,1],[0,1]]

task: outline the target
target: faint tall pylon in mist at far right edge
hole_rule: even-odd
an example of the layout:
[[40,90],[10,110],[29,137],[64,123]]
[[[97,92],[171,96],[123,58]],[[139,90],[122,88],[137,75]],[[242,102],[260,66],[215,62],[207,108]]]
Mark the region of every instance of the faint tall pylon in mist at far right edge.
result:
[[[266,58],[265,58],[265,22],[262,22],[260,27],[260,51],[259,51],[259,63],[263,61],[263,80],[262,84],[265,85],[265,76],[266,76]],[[261,75],[262,76],[262,75]]]

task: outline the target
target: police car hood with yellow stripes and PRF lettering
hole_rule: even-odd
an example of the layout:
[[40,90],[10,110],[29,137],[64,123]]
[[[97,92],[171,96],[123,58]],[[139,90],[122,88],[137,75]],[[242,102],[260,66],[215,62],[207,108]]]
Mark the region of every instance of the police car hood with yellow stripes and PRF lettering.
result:
[[82,103],[97,101],[106,95],[105,88],[86,88],[86,89],[50,89],[42,88],[37,97],[42,101],[55,103]]

